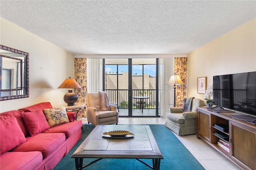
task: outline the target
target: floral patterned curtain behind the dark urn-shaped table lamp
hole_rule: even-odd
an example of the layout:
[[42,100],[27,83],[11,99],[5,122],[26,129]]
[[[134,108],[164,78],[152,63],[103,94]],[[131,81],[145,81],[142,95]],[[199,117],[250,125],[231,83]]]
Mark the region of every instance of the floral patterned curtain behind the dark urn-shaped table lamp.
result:
[[[75,58],[75,80],[82,87],[82,89],[75,89],[78,94],[78,103],[84,103],[86,105],[86,93],[87,93],[87,71],[86,71],[86,58]],[[78,118],[86,117],[86,109],[81,110],[78,113]]]

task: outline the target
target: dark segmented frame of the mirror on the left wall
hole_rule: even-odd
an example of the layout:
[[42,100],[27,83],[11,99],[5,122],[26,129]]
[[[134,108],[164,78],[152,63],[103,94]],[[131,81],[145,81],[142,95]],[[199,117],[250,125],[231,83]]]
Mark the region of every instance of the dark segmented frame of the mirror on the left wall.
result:
[[[25,87],[24,90],[26,90],[26,94],[3,96],[3,97],[0,97],[0,101],[29,97],[29,53],[26,53],[24,51],[20,51],[18,49],[14,49],[14,48],[11,48],[11,47],[6,47],[4,45],[0,45],[0,49],[5,50],[5,51],[10,51],[10,52],[13,52],[13,53],[17,53],[17,54],[20,54],[20,55],[24,55],[24,69],[25,69],[24,72],[26,72],[26,73],[22,74],[22,75],[25,75],[26,78],[24,78],[23,76],[21,77],[21,79],[24,80],[24,87]],[[4,90],[1,90],[1,91],[13,91],[13,90],[16,90],[16,89],[4,89]]]

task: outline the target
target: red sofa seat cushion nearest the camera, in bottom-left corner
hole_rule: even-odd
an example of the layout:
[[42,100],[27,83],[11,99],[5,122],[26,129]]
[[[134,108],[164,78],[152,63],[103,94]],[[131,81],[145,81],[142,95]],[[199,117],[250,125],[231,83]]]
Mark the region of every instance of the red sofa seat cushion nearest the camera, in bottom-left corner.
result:
[[0,170],[34,170],[42,162],[41,152],[6,152],[1,155]]

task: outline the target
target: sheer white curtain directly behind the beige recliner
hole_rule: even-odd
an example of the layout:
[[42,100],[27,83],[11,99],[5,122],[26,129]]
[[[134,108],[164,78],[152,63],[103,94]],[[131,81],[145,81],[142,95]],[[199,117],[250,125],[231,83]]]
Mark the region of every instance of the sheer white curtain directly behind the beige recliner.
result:
[[87,59],[87,93],[102,91],[102,62],[103,59]]

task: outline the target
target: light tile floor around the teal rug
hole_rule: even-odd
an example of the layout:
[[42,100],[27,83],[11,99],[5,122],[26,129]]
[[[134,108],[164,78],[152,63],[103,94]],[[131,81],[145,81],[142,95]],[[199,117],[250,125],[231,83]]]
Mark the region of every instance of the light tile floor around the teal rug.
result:
[[[87,119],[80,119],[87,124]],[[164,118],[155,117],[119,117],[119,125],[152,125],[165,124]],[[238,170],[224,156],[208,146],[203,140],[196,138],[196,134],[175,136],[191,152],[206,170]],[[192,168],[192,167],[191,167]]]

